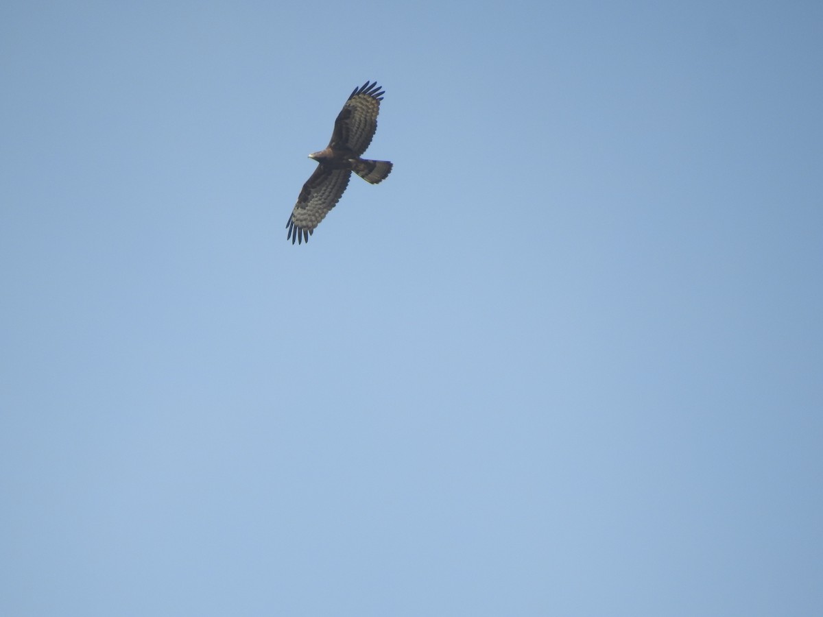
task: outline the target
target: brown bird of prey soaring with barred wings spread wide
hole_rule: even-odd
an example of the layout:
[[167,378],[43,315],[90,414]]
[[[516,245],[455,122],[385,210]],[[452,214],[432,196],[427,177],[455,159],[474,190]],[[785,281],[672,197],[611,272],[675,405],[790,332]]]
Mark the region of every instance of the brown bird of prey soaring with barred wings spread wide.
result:
[[391,172],[392,164],[388,160],[360,158],[377,130],[377,114],[383,94],[377,81],[366,81],[352,90],[334,121],[332,141],[325,150],[309,155],[319,165],[303,185],[286,223],[289,230],[286,239],[291,239],[291,244],[295,244],[295,240],[298,244],[304,240],[309,242],[309,235],[314,234],[314,228],[346,190],[352,171],[372,184],[384,180]]

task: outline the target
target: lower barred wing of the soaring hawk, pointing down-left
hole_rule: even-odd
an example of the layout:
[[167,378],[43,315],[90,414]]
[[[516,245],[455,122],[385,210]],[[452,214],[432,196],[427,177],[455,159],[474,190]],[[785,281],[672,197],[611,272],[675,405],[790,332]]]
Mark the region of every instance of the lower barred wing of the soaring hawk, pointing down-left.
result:
[[303,185],[286,223],[289,230],[286,239],[291,239],[291,244],[295,244],[295,240],[298,244],[309,242],[309,235],[339,201],[350,177],[350,169],[328,169],[318,165]]

